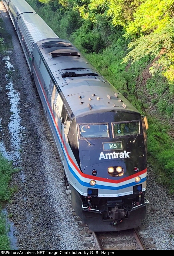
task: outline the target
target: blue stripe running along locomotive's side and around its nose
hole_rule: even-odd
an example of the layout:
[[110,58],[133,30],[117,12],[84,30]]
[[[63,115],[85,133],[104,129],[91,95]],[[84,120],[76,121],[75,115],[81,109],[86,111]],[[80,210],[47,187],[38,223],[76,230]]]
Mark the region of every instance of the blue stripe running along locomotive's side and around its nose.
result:
[[[40,87],[40,88],[41,88],[41,87]],[[42,89],[41,89],[41,92],[42,92]],[[42,92],[42,94],[43,94],[43,92]],[[43,95],[44,95],[44,94],[43,94]],[[44,97],[44,100],[45,100],[45,97]],[[45,102],[46,102],[46,100],[45,100]],[[46,102],[46,103],[47,103],[47,102]],[[51,117],[51,121],[52,121],[52,116],[51,116],[51,114],[50,114],[50,109],[49,109],[49,108],[48,108],[48,113],[49,113],[49,115],[50,115],[50,117]],[[61,145],[61,141],[60,141],[60,139],[59,139],[59,135],[58,135],[57,129],[55,128],[55,124],[54,124],[53,121],[52,121],[52,125],[53,125],[53,127],[54,127],[54,129],[55,129],[55,132],[56,132],[56,134],[57,134],[57,138],[58,138],[58,140],[59,140],[59,144],[60,144],[60,146],[61,146],[61,148],[62,148],[62,150],[63,150],[63,147],[62,147],[62,145]],[[70,167],[70,165],[69,165],[69,163],[68,163],[68,159],[66,158],[66,155],[65,155],[65,154],[64,154],[64,156],[65,156],[66,162],[67,162],[67,164],[68,164],[69,171],[73,174],[73,176],[76,178],[76,180],[78,180],[78,182],[79,182],[82,186],[85,186],[85,187],[92,187],[92,186],[90,186],[89,183],[82,181],[82,180],[77,176],[77,174],[76,174],[76,173],[73,171],[73,169]],[[144,181],[146,181],[146,177],[143,178],[140,183],[142,183],[142,182],[144,182]],[[135,186],[135,185],[138,185],[138,183],[137,183],[137,182],[131,182],[131,183],[128,183],[128,184],[126,184],[126,185],[119,186],[119,187],[111,187],[111,186],[104,186],[104,185],[97,185],[97,184],[96,184],[94,187],[95,187],[95,188],[98,188],[98,189],[119,190],[119,189],[124,189],[124,188],[126,188],[126,187],[131,187],[131,186]]]

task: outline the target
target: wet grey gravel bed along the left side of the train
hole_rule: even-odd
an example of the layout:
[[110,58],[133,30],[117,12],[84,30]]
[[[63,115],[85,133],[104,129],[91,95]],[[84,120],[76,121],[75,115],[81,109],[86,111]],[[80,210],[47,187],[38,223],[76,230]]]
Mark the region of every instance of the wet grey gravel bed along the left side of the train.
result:
[[[70,201],[63,181],[63,169],[55,146],[47,135],[48,125],[41,102],[32,83],[19,40],[10,18],[0,3],[1,18],[6,31],[12,37],[14,50],[6,53],[14,71],[8,75],[13,84],[13,96],[18,96],[16,107],[20,115],[13,117],[10,111],[9,89],[6,84],[6,60],[1,59],[1,146],[8,155],[14,155],[14,164],[21,168],[13,177],[12,185],[17,192],[7,205],[8,214],[14,222],[17,248],[19,250],[78,250],[84,249],[78,225],[72,215]],[[11,74],[12,73],[12,74]],[[1,101],[1,102],[2,102]],[[6,114],[6,112],[8,112]],[[9,129],[10,120],[18,123],[15,136]],[[18,122],[17,122],[18,121]],[[20,155],[20,156],[19,156]]]

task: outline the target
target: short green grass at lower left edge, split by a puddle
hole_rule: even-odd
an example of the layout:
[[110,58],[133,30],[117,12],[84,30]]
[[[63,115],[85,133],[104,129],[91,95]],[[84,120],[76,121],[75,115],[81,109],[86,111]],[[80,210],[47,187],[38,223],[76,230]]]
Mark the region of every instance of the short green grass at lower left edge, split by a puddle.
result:
[[[15,188],[9,186],[12,174],[17,171],[12,167],[0,153],[0,205],[10,199]],[[8,239],[8,228],[6,226],[6,216],[3,214],[0,206],[0,250],[10,250],[10,241]]]

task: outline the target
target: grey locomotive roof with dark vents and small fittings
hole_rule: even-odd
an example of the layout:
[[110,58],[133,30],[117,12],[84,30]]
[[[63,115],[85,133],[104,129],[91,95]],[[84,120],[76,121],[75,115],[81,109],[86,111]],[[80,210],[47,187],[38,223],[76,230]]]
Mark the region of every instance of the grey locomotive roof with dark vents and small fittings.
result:
[[37,45],[75,117],[100,110],[138,112],[68,40],[52,38]]

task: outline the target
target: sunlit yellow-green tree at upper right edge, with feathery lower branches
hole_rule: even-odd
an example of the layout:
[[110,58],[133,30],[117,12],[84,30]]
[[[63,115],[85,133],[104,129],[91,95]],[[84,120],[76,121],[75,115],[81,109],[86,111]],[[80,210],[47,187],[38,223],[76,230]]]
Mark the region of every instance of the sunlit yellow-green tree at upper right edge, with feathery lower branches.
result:
[[[154,5],[155,3],[155,5]],[[128,45],[129,53],[123,62],[138,61],[146,55],[155,59],[150,72],[161,71],[174,80],[174,1],[150,0],[142,3],[134,14],[134,21],[126,27],[125,37],[139,36]]]

